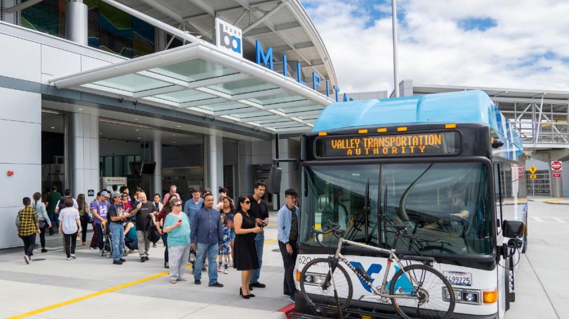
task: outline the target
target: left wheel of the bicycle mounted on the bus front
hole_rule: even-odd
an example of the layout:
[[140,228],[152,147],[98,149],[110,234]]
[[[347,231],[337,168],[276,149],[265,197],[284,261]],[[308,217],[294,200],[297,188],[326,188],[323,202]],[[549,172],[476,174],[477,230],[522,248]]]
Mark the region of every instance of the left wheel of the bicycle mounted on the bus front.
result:
[[[300,290],[308,306],[319,314],[339,313],[352,301],[352,281],[340,264],[336,265],[330,277],[328,258],[316,258],[300,272]],[[333,280],[332,280],[333,279]]]

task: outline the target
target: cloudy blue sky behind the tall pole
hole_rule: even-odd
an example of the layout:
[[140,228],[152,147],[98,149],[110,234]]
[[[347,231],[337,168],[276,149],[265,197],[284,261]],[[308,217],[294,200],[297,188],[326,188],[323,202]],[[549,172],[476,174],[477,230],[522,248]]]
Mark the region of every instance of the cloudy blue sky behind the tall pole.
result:
[[[300,0],[341,91],[393,90],[391,0]],[[569,1],[398,0],[399,79],[569,91]]]

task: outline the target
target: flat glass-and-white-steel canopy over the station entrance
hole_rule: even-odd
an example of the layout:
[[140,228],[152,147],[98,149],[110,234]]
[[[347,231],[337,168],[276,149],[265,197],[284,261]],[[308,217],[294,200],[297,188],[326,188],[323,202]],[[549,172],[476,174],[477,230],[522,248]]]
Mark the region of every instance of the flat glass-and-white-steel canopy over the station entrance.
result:
[[60,89],[174,108],[274,133],[310,131],[334,101],[290,77],[199,42],[50,80]]

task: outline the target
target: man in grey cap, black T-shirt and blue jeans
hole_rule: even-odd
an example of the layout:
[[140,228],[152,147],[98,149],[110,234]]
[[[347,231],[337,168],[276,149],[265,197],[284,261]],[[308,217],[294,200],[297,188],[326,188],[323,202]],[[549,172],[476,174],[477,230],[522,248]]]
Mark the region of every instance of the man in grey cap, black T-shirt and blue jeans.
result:
[[109,206],[107,219],[110,221],[110,232],[113,238],[113,264],[122,265],[126,260],[121,258],[121,253],[125,247],[125,228],[122,226],[125,220],[130,217],[130,213],[125,213],[122,208],[121,193],[113,192],[110,195],[113,204]]

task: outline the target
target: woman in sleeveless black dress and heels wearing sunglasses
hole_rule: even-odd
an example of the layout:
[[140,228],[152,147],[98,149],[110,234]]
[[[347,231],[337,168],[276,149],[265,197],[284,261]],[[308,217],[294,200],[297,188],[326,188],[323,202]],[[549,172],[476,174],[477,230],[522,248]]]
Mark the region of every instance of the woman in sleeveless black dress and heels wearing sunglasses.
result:
[[259,268],[257,260],[257,248],[255,247],[255,234],[263,231],[255,219],[248,213],[251,208],[251,201],[246,196],[241,196],[238,200],[238,211],[233,217],[235,227],[235,259],[233,262],[237,270],[241,270],[241,288],[239,294],[245,299],[254,297],[249,291],[249,283],[253,269]]

